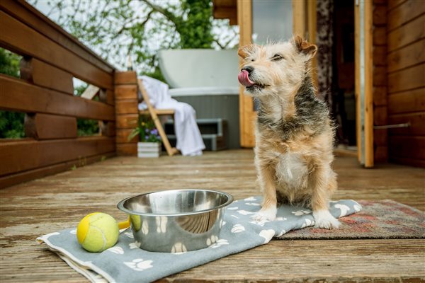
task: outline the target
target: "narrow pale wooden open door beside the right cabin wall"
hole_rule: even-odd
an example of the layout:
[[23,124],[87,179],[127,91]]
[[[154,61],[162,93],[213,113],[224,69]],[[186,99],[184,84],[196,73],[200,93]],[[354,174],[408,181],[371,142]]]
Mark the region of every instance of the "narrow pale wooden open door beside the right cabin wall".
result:
[[358,161],[373,167],[373,22],[372,1],[356,0],[355,88]]

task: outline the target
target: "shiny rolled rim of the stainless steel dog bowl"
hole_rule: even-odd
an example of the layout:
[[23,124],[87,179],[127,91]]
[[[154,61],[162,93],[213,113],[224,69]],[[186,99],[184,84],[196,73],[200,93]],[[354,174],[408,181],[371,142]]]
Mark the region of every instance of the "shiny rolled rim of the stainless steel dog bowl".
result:
[[[220,204],[217,207],[212,207],[209,209],[203,209],[203,210],[198,210],[197,212],[181,212],[181,213],[149,213],[149,212],[135,212],[133,210],[127,209],[124,207],[124,203],[127,200],[130,200],[134,197],[140,197],[142,195],[150,195],[150,194],[154,194],[157,192],[181,192],[181,191],[202,191],[202,192],[215,192],[221,195],[225,195],[227,197],[227,201],[224,204]],[[217,209],[222,209],[223,207],[227,207],[229,204],[231,204],[233,202],[233,196],[230,195],[227,192],[222,192],[220,190],[205,190],[205,189],[174,189],[174,190],[159,190],[156,192],[146,192],[140,195],[133,195],[132,197],[127,197],[124,200],[121,200],[120,202],[118,202],[117,207],[118,209],[120,209],[122,212],[125,212],[127,214],[132,214],[132,215],[140,215],[140,216],[184,216],[184,215],[194,215],[194,214],[202,214],[205,212],[212,212],[213,210],[217,210]]]

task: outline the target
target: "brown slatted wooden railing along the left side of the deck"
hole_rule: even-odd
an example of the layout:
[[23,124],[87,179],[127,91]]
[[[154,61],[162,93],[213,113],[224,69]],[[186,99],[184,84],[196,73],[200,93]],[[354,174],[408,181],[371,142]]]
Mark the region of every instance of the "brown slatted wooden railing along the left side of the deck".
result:
[[[21,79],[0,74],[0,110],[26,113],[26,138],[0,140],[0,187],[115,155],[111,65],[23,0],[0,1],[0,47],[23,56]],[[74,96],[73,77],[100,101]],[[77,137],[77,118],[101,134]]]

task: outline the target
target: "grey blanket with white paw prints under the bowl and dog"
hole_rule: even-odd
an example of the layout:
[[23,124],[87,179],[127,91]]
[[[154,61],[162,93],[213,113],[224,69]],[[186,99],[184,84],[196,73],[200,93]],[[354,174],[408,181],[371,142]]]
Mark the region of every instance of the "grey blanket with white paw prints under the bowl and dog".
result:
[[[152,253],[138,248],[130,229],[120,233],[118,243],[102,253],[89,253],[77,241],[77,229],[65,229],[37,238],[39,243],[62,258],[91,282],[152,282],[227,255],[264,245],[294,229],[314,225],[309,209],[279,207],[275,221],[254,222],[261,197],[237,200],[227,207],[220,237],[211,238],[210,246],[202,250],[176,253]],[[330,212],[342,217],[361,210],[353,200],[330,202]]]

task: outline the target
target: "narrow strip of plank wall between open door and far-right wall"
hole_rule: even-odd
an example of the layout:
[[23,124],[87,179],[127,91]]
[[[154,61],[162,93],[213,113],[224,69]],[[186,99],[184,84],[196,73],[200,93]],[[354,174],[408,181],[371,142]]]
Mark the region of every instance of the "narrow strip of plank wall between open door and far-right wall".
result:
[[[387,0],[373,1],[373,124],[387,125]],[[388,160],[387,129],[373,130],[375,163]]]

